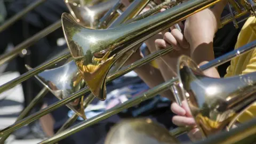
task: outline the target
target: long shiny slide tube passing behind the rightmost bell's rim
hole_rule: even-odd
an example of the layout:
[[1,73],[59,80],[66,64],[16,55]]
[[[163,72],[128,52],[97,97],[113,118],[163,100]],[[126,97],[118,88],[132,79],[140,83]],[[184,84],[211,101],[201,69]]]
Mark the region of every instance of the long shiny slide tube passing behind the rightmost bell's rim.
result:
[[[232,58],[234,58],[238,55],[241,55],[241,54],[244,54],[244,53],[248,52],[249,50],[253,49],[254,47],[256,47],[256,41],[253,41],[252,43],[246,44],[245,46],[243,46],[243,47],[241,47],[241,48],[239,48],[235,51],[232,51],[232,52],[229,52],[225,55],[222,55],[221,57],[218,58],[218,60],[215,59],[213,61],[210,61],[209,63],[206,63],[205,65],[203,65],[199,68],[201,68],[202,70],[206,70],[206,69],[211,68],[211,67],[217,67],[217,66],[221,65],[222,63],[225,63],[225,62],[231,60]],[[110,116],[113,116],[113,115],[115,115],[115,114],[117,114],[117,113],[119,113],[119,112],[121,112],[121,111],[123,111],[127,108],[130,108],[132,106],[136,106],[142,101],[153,98],[156,94],[161,93],[161,92],[169,89],[174,83],[177,83],[177,82],[179,82],[179,81],[178,81],[178,78],[176,77],[176,78],[173,78],[173,79],[169,80],[168,82],[165,82],[163,84],[155,86],[153,89],[150,89],[150,90],[146,91],[145,93],[142,93],[142,94],[138,95],[138,97],[135,97],[131,100],[128,100],[128,101],[126,101],[126,102],[124,102],[121,105],[118,105],[116,107],[113,107],[113,108],[107,110],[105,113],[101,113],[98,116],[94,116],[90,119],[87,119],[84,122],[76,124],[76,125],[70,127],[69,129],[59,133],[59,134],[55,134],[52,138],[46,139],[46,140],[44,140],[40,143],[41,144],[42,143],[54,143],[54,142],[57,142],[59,140],[62,140],[64,138],[68,137],[71,134],[74,134],[78,131],[81,131],[82,129],[85,129],[88,126],[91,126],[91,125],[93,125],[97,122],[102,121],[103,119],[109,118]]]

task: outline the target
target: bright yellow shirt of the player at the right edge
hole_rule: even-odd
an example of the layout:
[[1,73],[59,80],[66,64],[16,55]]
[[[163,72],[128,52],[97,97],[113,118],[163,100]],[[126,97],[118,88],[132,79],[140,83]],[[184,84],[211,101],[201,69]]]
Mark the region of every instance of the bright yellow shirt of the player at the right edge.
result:
[[[244,26],[238,35],[235,49],[254,40],[256,40],[256,19],[250,17],[244,23]],[[231,64],[227,68],[225,77],[248,74],[254,71],[256,71],[256,49],[231,60]],[[252,119],[254,116],[256,116],[256,103],[245,111],[245,113],[238,118],[238,121],[243,123]]]

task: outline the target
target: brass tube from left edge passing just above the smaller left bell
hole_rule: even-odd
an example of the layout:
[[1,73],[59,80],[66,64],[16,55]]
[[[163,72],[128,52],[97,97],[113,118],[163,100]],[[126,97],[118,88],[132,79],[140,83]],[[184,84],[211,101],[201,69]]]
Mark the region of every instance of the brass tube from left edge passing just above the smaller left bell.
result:
[[39,65],[36,68],[29,70],[27,73],[24,73],[21,76],[12,79],[12,81],[9,81],[9,82],[1,85],[0,86],[0,93],[11,89],[13,86],[15,86],[15,85],[17,85],[17,84],[19,84],[23,81],[26,81],[26,79],[42,72],[47,67],[53,66],[55,63],[60,62],[62,59],[69,58],[70,56],[71,56],[70,53],[66,53],[66,54],[61,55],[60,57],[57,57],[57,58],[53,59],[53,60],[49,60],[49,61],[46,61],[46,62],[42,63],[42,65]]

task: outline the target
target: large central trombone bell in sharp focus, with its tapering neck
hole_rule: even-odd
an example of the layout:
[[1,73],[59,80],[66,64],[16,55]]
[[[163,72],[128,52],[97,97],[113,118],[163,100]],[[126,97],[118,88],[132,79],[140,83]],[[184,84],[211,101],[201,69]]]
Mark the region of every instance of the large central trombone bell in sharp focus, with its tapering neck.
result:
[[[110,67],[122,54],[131,50],[134,45],[196,13],[196,7],[205,9],[209,2],[212,1],[188,1],[145,19],[104,30],[84,28],[71,15],[63,13],[62,28],[70,52],[87,86],[95,97],[105,100],[106,76]],[[214,1],[214,4],[217,2]]]

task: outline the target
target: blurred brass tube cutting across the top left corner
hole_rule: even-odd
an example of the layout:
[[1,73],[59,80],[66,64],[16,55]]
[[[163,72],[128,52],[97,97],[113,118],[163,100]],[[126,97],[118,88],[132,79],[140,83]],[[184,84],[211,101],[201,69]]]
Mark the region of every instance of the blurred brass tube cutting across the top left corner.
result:
[[42,4],[43,2],[45,2],[46,0],[38,0],[32,4],[30,4],[29,6],[26,7],[25,10],[19,12],[18,14],[14,15],[12,18],[8,19],[7,21],[5,21],[3,23],[2,26],[0,26],[0,33],[5,30],[7,27],[13,25],[13,23],[17,20],[19,20],[20,18],[22,18],[25,14],[27,14],[29,11],[35,9],[35,7],[37,7],[38,5]]

